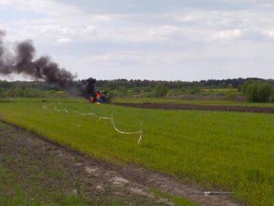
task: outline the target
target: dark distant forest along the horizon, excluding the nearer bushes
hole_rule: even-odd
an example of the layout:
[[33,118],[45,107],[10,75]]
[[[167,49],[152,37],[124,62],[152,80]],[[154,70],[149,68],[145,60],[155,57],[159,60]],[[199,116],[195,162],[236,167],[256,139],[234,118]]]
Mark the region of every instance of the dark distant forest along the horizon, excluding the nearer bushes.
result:
[[[261,78],[234,78],[234,79],[225,79],[225,80],[201,80],[201,81],[161,81],[161,80],[126,80],[126,79],[117,79],[117,80],[97,80],[96,87],[97,89],[132,89],[136,87],[151,87],[159,83],[164,84],[169,89],[184,89],[189,87],[201,87],[201,88],[238,88],[242,86],[247,80],[264,80]],[[264,80],[274,85],[273,79]],[[54,84],[48,84],[47,82],[33,81],[33,82],[24,82],[24,81],[1,81],[0,88],[10,89],[14,87],[25,88],[35,88],[40,90],[55,90],[60,91],[60,89]]]

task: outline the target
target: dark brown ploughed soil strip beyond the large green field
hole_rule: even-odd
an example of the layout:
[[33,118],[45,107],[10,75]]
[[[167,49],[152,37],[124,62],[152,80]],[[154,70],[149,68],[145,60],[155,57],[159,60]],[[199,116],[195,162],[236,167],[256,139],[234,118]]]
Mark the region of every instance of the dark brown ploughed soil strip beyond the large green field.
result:
[[136,108],[154,108],[154,109],[166,109],[166,110],[230,111],[230,112],[274,114],[274,108],[255,107],[255,106],[221,106],[221,105],[201,105],[201,104],[133,104],[133,103],[116,103],[116,105],[136,107]]

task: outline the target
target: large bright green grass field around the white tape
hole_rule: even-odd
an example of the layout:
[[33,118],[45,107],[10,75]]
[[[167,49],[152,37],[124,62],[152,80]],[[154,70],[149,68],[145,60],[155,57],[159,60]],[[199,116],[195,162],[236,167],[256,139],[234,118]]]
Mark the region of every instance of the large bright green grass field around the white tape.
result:
[[[58,101],[59,102],[59,101]],[[114,117],[110,121],[74,113],[44,111],[41,100],[1,100],[0,114],[16,124],[88,155],[114,163],[135,163],[235,192],[250,205],[274,205],[274,115],[215,111],[161,111],[60,100],[58,108]],[[217,189],[219,188],[219,189]]]

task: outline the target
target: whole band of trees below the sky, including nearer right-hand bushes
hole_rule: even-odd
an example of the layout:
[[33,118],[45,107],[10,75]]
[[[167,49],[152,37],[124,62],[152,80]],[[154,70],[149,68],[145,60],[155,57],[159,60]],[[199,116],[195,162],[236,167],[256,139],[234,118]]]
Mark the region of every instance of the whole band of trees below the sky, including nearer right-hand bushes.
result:
[[[149,97],[163,97],[176,93],[178,95],[199,94],[203,89],[238,89],[251,102],[274,102],[274,80],[260,78],[234,78],[226,80],[157,81],[157,80],[97,80],[97,90],[111,91],[118,95],[132,95],[132,93],[147,93]],[[173,92],[171,92],[173,91]],[[62,90],[47,82],[1,81],[0,98],[21,97],[35,98],[47,95],[62,94]],[[63,95],[63,94],[62,94]],[[235,93],[232,93],[235,95]],[[233,98],[231,98],[233,99]]]

